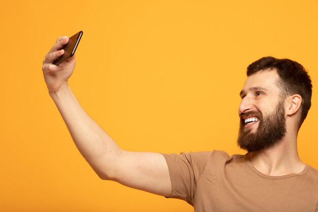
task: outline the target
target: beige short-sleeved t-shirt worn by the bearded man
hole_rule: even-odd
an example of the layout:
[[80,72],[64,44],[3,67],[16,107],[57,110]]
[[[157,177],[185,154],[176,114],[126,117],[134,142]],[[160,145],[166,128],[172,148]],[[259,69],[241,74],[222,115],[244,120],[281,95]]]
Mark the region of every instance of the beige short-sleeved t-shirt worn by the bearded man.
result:
[[213,152],[163,154],[172,195],[202,211],[318,212],[318,171],[306,165],[298,174],[268,176],[249,155]]

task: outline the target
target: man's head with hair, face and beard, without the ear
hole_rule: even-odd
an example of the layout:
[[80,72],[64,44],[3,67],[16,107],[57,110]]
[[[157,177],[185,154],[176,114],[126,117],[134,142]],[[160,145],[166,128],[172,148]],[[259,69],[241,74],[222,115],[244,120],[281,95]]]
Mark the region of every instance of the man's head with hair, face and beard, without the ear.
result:
[[299,100],[296,124],[300,128],[311,105],[312,85],[303,66],[290,59],[263,57],[247,67],[247,76],[240,94],[238,144],[255,152],[284,137],[287,98]]

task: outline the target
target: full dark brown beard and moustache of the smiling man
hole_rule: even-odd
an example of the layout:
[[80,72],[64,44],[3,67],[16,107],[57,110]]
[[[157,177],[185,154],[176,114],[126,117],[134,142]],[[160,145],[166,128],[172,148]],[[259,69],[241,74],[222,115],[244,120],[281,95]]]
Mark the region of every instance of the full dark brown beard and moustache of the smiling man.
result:
[[282,100],[279,100],[274,112],[267,117],[263,117],[263,114],[259,110],[244,113],[244,115],[258,117],[259,126],[254,133],[251,133],[250,129],[244,129],[244,119],[240,115],[238,146],[250,153],[265,150],[277,144],[286,134],[284,113],[285,109]]

